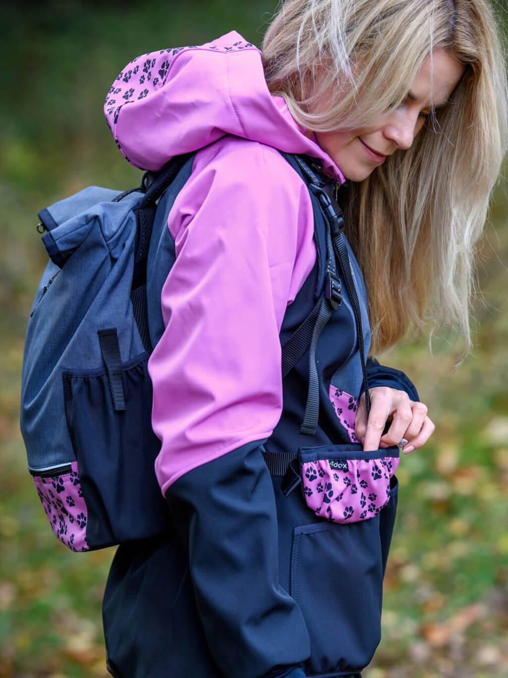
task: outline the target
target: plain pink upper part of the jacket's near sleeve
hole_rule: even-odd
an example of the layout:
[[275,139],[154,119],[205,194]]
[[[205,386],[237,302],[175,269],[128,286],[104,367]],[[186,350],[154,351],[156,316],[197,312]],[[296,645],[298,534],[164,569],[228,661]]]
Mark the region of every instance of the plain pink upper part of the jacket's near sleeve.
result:
[[282,410],[278,332],[316,258],[301,178],[274,148],[238,138],[196,155],[169,228],[166,328],[149,361],[163,494],[272,433]]

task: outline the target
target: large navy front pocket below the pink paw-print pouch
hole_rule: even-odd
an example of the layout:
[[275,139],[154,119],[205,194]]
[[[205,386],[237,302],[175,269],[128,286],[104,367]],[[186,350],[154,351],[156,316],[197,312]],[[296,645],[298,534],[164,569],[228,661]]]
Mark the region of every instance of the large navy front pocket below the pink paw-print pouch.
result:
[[389,502],[368,520],[349,524],[320,520],[293,530],[289,592],[299,604],[310,636],[308,676],[361,671],[373,657],[381,638],[383,570],[395,519],[395,477],[391,485]]

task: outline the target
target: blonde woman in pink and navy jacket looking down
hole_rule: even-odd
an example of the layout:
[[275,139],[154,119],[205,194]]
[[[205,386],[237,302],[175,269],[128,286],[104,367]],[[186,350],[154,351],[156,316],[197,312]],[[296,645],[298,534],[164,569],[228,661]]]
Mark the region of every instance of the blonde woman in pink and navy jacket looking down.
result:
[[[104,597],[112,675],[358,677],[371,660],[397,485],[381,506],[366,498],[360,456],[388,471],[394,446],[411,452],[434,427],[409,380],[373,358],[368,415],[364,393],[357,407],[360,348],[377,355],[429,319],[469,344],[506,103],[486,0],[289,0],[262,56],[232,32],[119,75],[105,110],[125,157],[159,169],[196,153],[169,212],[161,331],[150,328],[156,475],[174,534],[117,551]],[[337,189],[360,317],[349,264],[330,273],[324,221],[280,152]],[[329,274],[338,296],[315,361],[306,351],[282,380],[280,344]],[[315,430],[301,427],[310,365]],[[298,450],[314,455],[305,493],[274,466]],[[361,516],[326,521],[305,503],[321,458],[337,471],[358,462],[360,487],[344,484],[370,502]]]

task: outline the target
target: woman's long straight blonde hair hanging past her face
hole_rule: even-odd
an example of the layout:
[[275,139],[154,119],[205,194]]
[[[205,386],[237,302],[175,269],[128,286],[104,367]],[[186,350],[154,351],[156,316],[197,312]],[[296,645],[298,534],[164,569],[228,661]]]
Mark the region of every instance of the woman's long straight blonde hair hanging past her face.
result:
[[492,10],[487,0],[287,0],[263,41],[270,92],[315,132],[368,127],[402,104],[438,48],[466,66],[449,104],[408,151],[351,184],[342,205],[368,290],[374,354],[428,321],[431,333],[459,330],[471,348],[475,243],[508,138]]

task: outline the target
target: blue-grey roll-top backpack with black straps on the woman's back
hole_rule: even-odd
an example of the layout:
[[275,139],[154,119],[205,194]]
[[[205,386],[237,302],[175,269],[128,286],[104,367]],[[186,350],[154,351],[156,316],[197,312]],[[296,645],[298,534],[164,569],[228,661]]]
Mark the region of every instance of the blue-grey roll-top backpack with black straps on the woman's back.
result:
[[[315,222],[324,221],[331,243],[343,231],[331,186],[314,172],[314,161],[282,155],[308,183]],[[139,188],[89,186],[39,212],[49,262],[28,319],[21,431],[51,528],[72,551],[169,527],[154,473],[160,442],[151,426],[147,364],[164,331],[161,289],[175,261],[167,216],[193,158],[175,157],[160,172],[147,172]],[[282,347],[282,377],[310,353],[301,426],[308,435],[319,410],[315,348],[341,303],[334,248],[328,249],[325,289]]]

